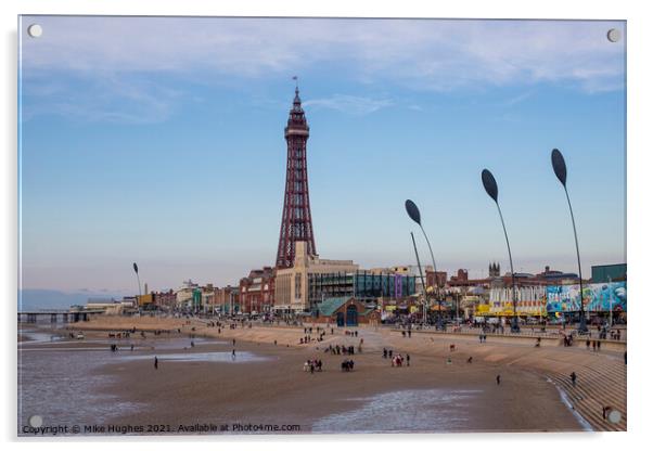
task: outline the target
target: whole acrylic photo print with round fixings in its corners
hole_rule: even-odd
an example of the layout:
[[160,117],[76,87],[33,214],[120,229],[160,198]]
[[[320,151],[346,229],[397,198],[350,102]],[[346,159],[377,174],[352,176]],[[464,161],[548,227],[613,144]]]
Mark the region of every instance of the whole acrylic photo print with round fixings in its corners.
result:
[[18,47],[18,436],[626,430],[625,21]]

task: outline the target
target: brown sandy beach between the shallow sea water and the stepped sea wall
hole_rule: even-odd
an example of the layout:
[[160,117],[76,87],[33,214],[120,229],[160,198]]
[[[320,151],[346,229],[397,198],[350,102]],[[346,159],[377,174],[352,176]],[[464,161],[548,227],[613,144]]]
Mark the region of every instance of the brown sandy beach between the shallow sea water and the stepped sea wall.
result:
[[[75,326],[87,330],[87,339],[93,336],[106,338],[110,330],[141,328],[138,321],[120,320],[126,321],[113,323],[102,319]],[[425,428],[423,418],[421,424],[412,425],[410,415],[414,412],[411,412],[411,407],[397,402],[386,407],[389,413],[384,421],[388,424],[377,429],[434,433],[582,430],[543,374],[478,357],[470,364],[466,359],[472,353],[449,355],[443,350],[444,347],[434,352],[432,349],[423,351],[414,346],[417,339],[401,340],[389,331],[359,328],[360,336],[353,337],[336,330],[334,335],[328,333],[325,342],[298,345],[299,337],[304,336],[300,327],[222,328],[218,334],[217,327],[182,323],[172,320],[144,323],[143,328],[168,326],[175,332],[159,338],[153,334],[145,339],[133,335],[131,339],[137,343],[133,353],[149,356],[145,360],[123,359],[95,370],[98,374],[115,376],[114,382],[104,388],[106,394],[140,405],[133,411],[116,412],[111,424],[169,425],[172,433],[178,431],[179,425],[206,423],[229,425],[230,431],[233,424],[299,425],[300,433],[309,433],[324,417],[360,409],[375,396],[402,391],[410,398],[421,396],[410,390],[436,389],[470,394],[464,402],[459,402],[460,405],[454,403],[458,405],[454,407],[457,414],[451,421],[438,423],[445,426]],[[177,326],[183,326],[181,334],[177,333]],[[191,348],[189,335],[193,333],[192,326],[196,327],[194,333],[197,335],[214,336],[228,343],[197,344]],[[90,332],[93,328],[103,332]],[[230,353],[231,339],[235,338],[236,362],[166,361],[166,353],[179,353],[179,349],[164,349],[159,344],[175,335],[188,339],[189,346],[183,350],[187,353]],[[351,373],[340,369],[345,356],[323,351],[329,344],[357,346],[360,338],[366,340],[363,352],[351,357],[356,362]],[[274,339],[277,346],[272,344]],[[383,359],[381,353],[381,348],[386,345],[395,352],[410,352],[410,368],[392,368],[389,360]],[[267,360],[239,362],[238,355],[244,351]],[[119,352],[131,353],[126,347],[121,347]],[[154,369],[154,355],[159,358],[158,370]],[[449,357],[451,364],[447,364]],[[303,364],[307,359],[321,359],[324,371],[315,374],[304,372]],[[501,374],[499,386],[496,384],[497,374]],[[424,396],[430,394],[424,391]],[[402,397],[401,394],[397,396],[398,399]],[[450,409],[440,412],[437,405],[436,399],[428,408],[415,409],[428,409],[434,417],[451,414]],[[353,429],[357,430],[355,425]],[[324,431],[323,428],[320,430]]]

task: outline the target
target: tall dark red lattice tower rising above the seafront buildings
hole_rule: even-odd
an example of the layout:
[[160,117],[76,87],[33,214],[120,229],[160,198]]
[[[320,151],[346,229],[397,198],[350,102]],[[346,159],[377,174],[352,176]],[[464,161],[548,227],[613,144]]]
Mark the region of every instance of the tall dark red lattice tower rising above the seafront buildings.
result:
[[308,199],[308,175],[306,171],[306,142],[308,124],[299,100],[299,88],[295,88],[295,100],[285,127],[287,163],[285,171],[285,194],[283,216],[277,250],[277,268],[291,268],[295,261],[295,243],[307,243],[309,255],[316,255],[312,234],[310,202]]

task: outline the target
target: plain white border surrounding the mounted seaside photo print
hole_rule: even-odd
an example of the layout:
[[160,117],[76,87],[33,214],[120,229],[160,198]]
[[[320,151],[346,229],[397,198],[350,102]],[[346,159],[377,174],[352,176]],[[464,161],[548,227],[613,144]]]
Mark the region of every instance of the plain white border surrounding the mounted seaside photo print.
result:
[[[565,446],[582,447],[586,449],[611,448],[627,449],[632,446],[643,444],[653,430],[649,424],[651,418],[651,377],[649,370],[651,363],[645,360],[649,356],[644,346],[646,339],[646,324],[651,323],[653,302],[646,297],[645,282],[651,265],[651,115],[646,115],[651,96],[651,48],[653,33],[651,16],[644,9],[645,2],[618,2],[614,1],[587,1],[572,2],[568,0],[549,0],[537,3],[526,1],[456,1],[427,4],[412,0],[397,1],[240,1],[218,3],[201,0],[3,0],[0,2],[3,31],[3,59],[1,76],[4,95],[1,109],[2,125],[1,137],[5,139],[2,154],[2,196],[0,197],[1,210],[4,212],[2,221],[3,258],[1,259],[0,276],[1,286],[4,288],[2,298],[5,319],[4,330],[8,339],[2,347],[3,360],[7,363],[2,372],[4,396],[0,425],[2,438],[13,440],[16,430],[16,347],[15,347],[15,297],[17,280],[16,256],[16,24],[17,14],[115,14],[115,15],[256,15],[256,16],[364,16],[364,17],[482,17],[482,18],[601,18],[627,20],[628,30],[628,266],[629,266],[629,359],[630,374],[628,377],[628,428],[626,434],[496,434],[496,435],[446,435],[446,436],[304,436],[286,442],[284,437],[236,437],[232,441],[220,440],[214,442],[203,438],[193,438],[193,448],[281,448],[295,449],[333,449],[347,444],[362,446],[363,442],[375,442],[373,446],[382,449],[401,447],[405,441],[414,447],[460,447],[474,449],[499,449],[515,447],[529,450],[560,448]],[[646,108],[649,106],[649,108]],[[648,307],[648,308],[646,308]],[[648,320],[648,321],[646,321]],[[649,337],[646,337],[649,335]],[[641,344],[641,345],[640,345]],[[644,409],[646,408],[646,409]],[[60,439],[61,440],[61,439]],[[188,439],[185,439],[188,440]],[[55,448],[88,448],[88,441],[93,441],[93,448],[115,448],[125,443],[101,443],[100,440],[71,441],[61,440]],[[139,447],[145,443],[138,440]],[[165,443],[156,444],[165,449],[179,447],[183,438],[167,438]],[[247,442],[248,441],[248,442]],[[350,443],[345,443],[349,441]],[[427,441],[427,442],[424,442]],[[16,443],[13,443],[14,446]],[[42,446],[42,441],[31,441],[29,447]]]

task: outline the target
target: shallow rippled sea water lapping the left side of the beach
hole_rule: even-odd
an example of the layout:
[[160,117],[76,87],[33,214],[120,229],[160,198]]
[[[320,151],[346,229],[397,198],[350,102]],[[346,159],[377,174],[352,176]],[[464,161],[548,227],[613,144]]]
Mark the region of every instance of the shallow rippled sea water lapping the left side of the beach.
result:
[[[18,434],[29,424],[33,415],[42,418],[43,426],[103,424],[124,413],[144,409],[145,405],[120,400],[107,392],[106,387],[117,382],[117,375],[102,374],[99,368],[126,360],[154,360],[175,362],[230,362],[246,363],[266,360],[252,352],[206,352],[202,345],[225,344],[208,338],[158,338],[140,347],[140,336],[129,340],[84,339],[65,346],[54,331],[47,327],[20,331],[27,340],[18,343]],[[52,338],[51,338],[52,337]],[[59,342],[59,343],[57,343]],[[112,352],[110,343],[117,343],[119,350]],[[51,346],[57,344],[59,346]],[[150,346],[154,344],[155,348]],[[197,349],[200,348],[200,349]],[[162,352],[163,351],[163,352]],[[176,351],[176,352],[175,352]],[[166,353],[167,352],[167,353]],[[25,435],[29,435],[26,434]]]

